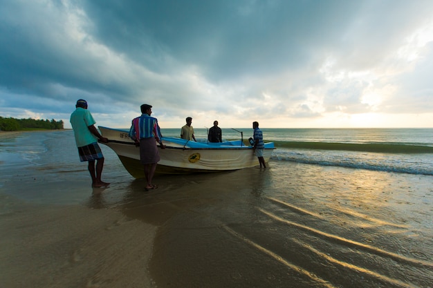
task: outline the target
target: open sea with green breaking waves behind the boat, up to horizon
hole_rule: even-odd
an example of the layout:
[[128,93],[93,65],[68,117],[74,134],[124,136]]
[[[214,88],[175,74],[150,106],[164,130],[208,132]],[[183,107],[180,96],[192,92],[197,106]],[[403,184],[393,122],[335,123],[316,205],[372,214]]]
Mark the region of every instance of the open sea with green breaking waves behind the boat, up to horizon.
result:
[[[206,138],[206,129],[195,129]],[[243,135],[238,131],[244,131]],[[222,129],[226,140],[248,139],[252,129]],[[264,138],[277,150],[272,160],[320,166],[433,175],[432,128],[264,128]],[[163,135],[178,137],[178,129]]]

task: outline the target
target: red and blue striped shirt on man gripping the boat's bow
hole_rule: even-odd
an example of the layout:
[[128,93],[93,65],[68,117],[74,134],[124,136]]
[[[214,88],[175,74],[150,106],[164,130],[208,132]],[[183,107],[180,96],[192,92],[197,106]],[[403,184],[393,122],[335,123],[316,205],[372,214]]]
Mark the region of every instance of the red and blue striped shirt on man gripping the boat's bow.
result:
[[147,114],[142,114],[140,117],[132,119],[131,129],[129,129],[129,137],[134,141],[155,137],[159,142],[162,135],[160,135],[158,119],[150,117]]

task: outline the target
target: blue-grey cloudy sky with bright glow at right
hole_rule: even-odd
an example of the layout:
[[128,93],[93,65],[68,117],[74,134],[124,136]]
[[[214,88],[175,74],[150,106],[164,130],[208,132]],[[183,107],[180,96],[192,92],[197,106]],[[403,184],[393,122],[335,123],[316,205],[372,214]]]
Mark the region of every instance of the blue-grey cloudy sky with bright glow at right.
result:
[[432,127],[431,0],[0,0],[0,116]]

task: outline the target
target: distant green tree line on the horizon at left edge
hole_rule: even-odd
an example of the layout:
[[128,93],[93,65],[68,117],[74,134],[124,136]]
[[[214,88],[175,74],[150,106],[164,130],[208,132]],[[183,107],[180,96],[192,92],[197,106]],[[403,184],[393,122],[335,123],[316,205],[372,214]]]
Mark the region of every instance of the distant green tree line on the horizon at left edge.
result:
[[0,116],[0,130],[1,131],[21,131],[32,129],[63,129],[63,121],[55,121],[55,119],[15,119],[5,118]]

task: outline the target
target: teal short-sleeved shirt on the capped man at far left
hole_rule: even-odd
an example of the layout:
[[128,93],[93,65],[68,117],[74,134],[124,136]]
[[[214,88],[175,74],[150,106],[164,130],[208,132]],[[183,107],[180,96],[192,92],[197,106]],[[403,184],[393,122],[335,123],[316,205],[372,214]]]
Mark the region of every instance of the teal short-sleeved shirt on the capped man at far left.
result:
[[77,143],[77,147],[87,146],[98,142],[98,138],[89,130],[89,126],[96,123],[89,110],[78,107],[71,114],[69,122],[71,122],[75,134],[75,143]]

